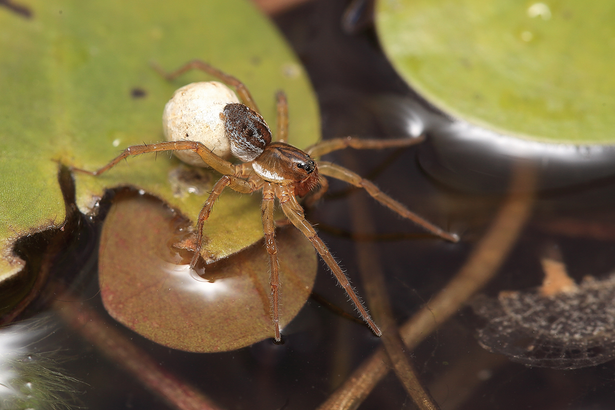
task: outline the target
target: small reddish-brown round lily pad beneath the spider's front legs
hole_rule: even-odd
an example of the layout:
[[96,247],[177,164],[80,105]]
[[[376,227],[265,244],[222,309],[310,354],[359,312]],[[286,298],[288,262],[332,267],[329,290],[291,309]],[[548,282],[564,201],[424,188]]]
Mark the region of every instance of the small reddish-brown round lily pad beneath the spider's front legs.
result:
[[[199,275],[189,268],[189,254],[171,251],[169,244],[183,235],[185,224],[151,197],[114,202],[98,259],[107,312],[154,342],[188,352],[234,350],[273,337],[264,242]],[[276,239],[284,327],[309,298],[317,259],[312,243],[295,227],[279,230]]]

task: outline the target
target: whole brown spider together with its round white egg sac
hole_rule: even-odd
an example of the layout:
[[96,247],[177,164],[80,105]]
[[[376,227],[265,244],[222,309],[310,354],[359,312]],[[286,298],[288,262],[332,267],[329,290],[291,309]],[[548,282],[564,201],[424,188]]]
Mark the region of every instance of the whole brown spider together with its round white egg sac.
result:
[[[166,104],[163,114],[163,129],[167,141],[154,144],[130,146],[107,165],[96,171],[78,170],[90,175],[100,175],[117,165],[122,159],[148,152],[171,151],[189,165],[211,167],[221,173],[213,184],[207,200],[196,220],[194,256],[190,266],[197,267],[202,258],[203,227],[208,220],[216,199],[227,187],[240,194],[261,191],[261,222],[265,246],[269,259],[269,285],[271,286],[271,319],[274,339],[282,341],[280,333],[280,266],[277,261],[275,229],[279,225],[274,219],[276,202],[282,208],[287,224],[295,226],[314,246],[314,249],[335,276],[339,286],[346,291],[367,326],[380,336],[382,332],[371,319],[368,310],[352,287],[346,272],[339,266],[327,245],[320,239],[314,226],[305,218],[304,208],[297,197],[306,197],[305,205],[318,200],[327,192],[325,177],[339,179],[351,186],[365,189],[368,194],[385,207],[403,218],[410,219],[438,237],[456,242],[458,237],[443,231],[434,224],[408,210],[402,203],[384,194],[375,184],[351,170],[318,158],[344,148],[385,149],[403,148],[421,141],[420,138],[396,140],[361,140],[346,137],[321,141],[305,151],[285,141],[288,134],[288,108],[284,92],[276,93],[277,128],[275,138],[268,124],[258,111],[248,88],[236,77],[200,60],[192,60],[172,73],[162,68],[154,69],[165,79],[172,81],[191,69],[199,69],[227,84],[237,92],[239,98],[220,82],[192,83],[181,87]],[[196,112],[196,114],[194,114]],[[185,130],[191,130],[189,133]],[[184,138],[186,135],[191,140]],[[189,155],[190,154],[190,155]],[[196,155],[195,155],[196,154]],[[225,158],[240,160],[233,164]],[[77,170],[77,168],[74,168]],[[318,189],[317,189],[318,187]],[[312,193],[313,192],[313,193]],[[309,195],[312,193],[312,197]]]

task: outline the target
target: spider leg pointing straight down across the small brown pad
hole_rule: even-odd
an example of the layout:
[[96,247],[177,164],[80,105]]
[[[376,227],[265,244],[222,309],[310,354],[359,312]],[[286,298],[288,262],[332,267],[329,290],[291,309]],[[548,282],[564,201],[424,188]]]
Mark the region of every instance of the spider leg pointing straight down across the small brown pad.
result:
[[276,223],[274,221],[273,209],[276,200],[276,189],[267,183],[263,187],[263,232],[265,235],[265,245],[269,254],[269,284],[271,285],[271,315],[273,317],[273,325],[276,331],[276,342],[281,341],[280,338],[280,299],[279,299],[279,265],[277,263],[277,246],[276,246]]

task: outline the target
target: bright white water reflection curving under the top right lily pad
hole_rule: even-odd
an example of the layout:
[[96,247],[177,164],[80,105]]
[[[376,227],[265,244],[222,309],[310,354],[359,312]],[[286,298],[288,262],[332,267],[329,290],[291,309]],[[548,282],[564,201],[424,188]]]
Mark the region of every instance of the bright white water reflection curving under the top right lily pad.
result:
[[536,167],[539,189],[587,183],[613,175],[615,147],[605,144],[557,144],[505,135],[461,119],[452,119],[416,98],[387,95],[374,99],[375,111],[388,124],[411,136],[426,133],[419,162],[431,176],[471,191],[502,192],[517,160]]

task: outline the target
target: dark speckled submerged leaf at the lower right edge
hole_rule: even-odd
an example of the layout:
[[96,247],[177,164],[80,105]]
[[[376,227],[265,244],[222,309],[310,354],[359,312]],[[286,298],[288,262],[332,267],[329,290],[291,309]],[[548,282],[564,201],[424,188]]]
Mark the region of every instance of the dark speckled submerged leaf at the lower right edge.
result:
[[573,291],[502,292],[482,296],[474,311],[485,320],[478,342],[528,366],[576,369],[615,357],[615,275],[587,277]]

